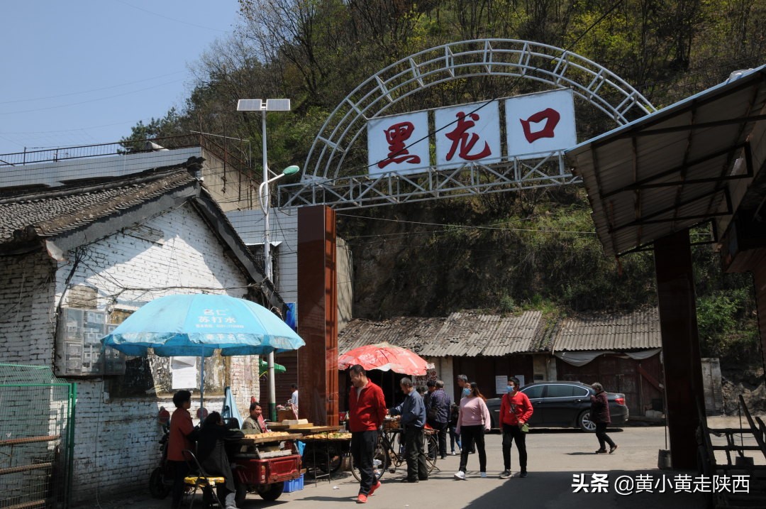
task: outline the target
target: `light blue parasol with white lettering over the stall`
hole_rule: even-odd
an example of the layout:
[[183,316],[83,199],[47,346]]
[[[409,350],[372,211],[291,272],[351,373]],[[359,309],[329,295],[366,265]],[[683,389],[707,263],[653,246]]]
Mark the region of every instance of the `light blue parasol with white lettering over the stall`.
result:
[[[263,355],[306,343],[265,307],[228,295],[168,295],[148,302],[101,340],[130,356]],[[200,387],[200,393],[202,388]],[[201,394],[200,394],[201,396]]]

